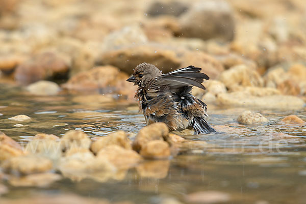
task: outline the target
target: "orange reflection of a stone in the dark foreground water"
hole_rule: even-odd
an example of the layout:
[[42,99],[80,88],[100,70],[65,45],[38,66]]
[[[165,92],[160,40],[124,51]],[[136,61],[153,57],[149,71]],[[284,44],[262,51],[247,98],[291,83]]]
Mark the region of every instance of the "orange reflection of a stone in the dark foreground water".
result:
[[169,167],[170,160],[147,160],[136,166],[136,170],[142,178],[164,179],[168,175]]

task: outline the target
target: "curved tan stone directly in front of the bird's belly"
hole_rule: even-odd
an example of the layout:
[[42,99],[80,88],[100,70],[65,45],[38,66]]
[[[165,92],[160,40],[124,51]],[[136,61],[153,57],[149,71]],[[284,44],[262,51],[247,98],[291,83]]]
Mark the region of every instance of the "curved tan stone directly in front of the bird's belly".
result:
[[149,141],[167,140],[169,129],[164,123],[153,123],[143,127],[133,141],[133,150],[139,152]]

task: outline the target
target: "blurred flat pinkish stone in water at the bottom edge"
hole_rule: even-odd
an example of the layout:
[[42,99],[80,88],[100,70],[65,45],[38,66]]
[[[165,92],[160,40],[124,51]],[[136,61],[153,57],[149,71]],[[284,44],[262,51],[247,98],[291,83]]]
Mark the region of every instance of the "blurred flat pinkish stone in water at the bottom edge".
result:
[[221,191],[198,191],[185,196],[186,202],[201,204],[228,202],[230,199],[230,194]]

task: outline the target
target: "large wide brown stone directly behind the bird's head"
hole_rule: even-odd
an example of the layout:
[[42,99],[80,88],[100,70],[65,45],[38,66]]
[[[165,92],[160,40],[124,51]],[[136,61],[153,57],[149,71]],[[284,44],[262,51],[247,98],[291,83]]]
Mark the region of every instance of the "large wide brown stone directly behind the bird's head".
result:
[[134,68],[143,62],[155,65],[164,73],[179,68],[181,64],[175,48],[156,43],[124,46],[101,53],[98,57],[98,64],[118,67],[127,74],[133,74]]

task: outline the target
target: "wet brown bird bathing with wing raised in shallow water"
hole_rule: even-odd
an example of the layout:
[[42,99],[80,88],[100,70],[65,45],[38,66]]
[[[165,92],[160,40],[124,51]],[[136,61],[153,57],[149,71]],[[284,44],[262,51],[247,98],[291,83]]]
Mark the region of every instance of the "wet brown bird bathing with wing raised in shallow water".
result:
[[207,123],[207,105],[191,94],[192,86],[205,90],[201,68],[189,66],[167,74],[154,65],[142,63],[126,81],[138,85],[135,98],[146,124],[165,123],[170,131],[193,129],[195,134],[215,130]]

